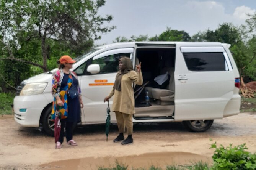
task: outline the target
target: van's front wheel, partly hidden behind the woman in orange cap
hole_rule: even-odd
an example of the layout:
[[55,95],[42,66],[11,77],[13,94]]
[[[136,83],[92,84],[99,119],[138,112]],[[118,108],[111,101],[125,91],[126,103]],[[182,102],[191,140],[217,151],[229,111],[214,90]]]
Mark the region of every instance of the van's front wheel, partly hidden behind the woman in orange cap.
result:
[[54,136],[55,123],[54,123],[54,120],[51,120],[51,114],[52,114],[52,107],[49,107],[44,112],[43,119],[42,119],[42,127],[48,135]]

